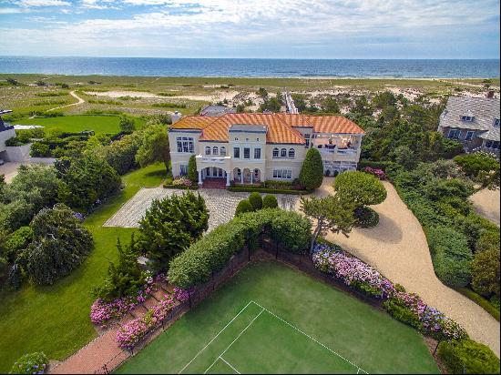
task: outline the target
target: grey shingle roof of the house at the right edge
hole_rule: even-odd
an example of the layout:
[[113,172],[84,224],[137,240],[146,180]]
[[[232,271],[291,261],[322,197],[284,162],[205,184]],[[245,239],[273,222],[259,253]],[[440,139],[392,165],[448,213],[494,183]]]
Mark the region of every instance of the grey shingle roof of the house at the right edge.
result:
[[[464,116],[473,117],[473,121],[462,120]],[[478,137],[499,140],[499,127],[494,127],[495,118],[499,118],[499,99],[451,96],[440,116],[440,126],[484,131]]]

